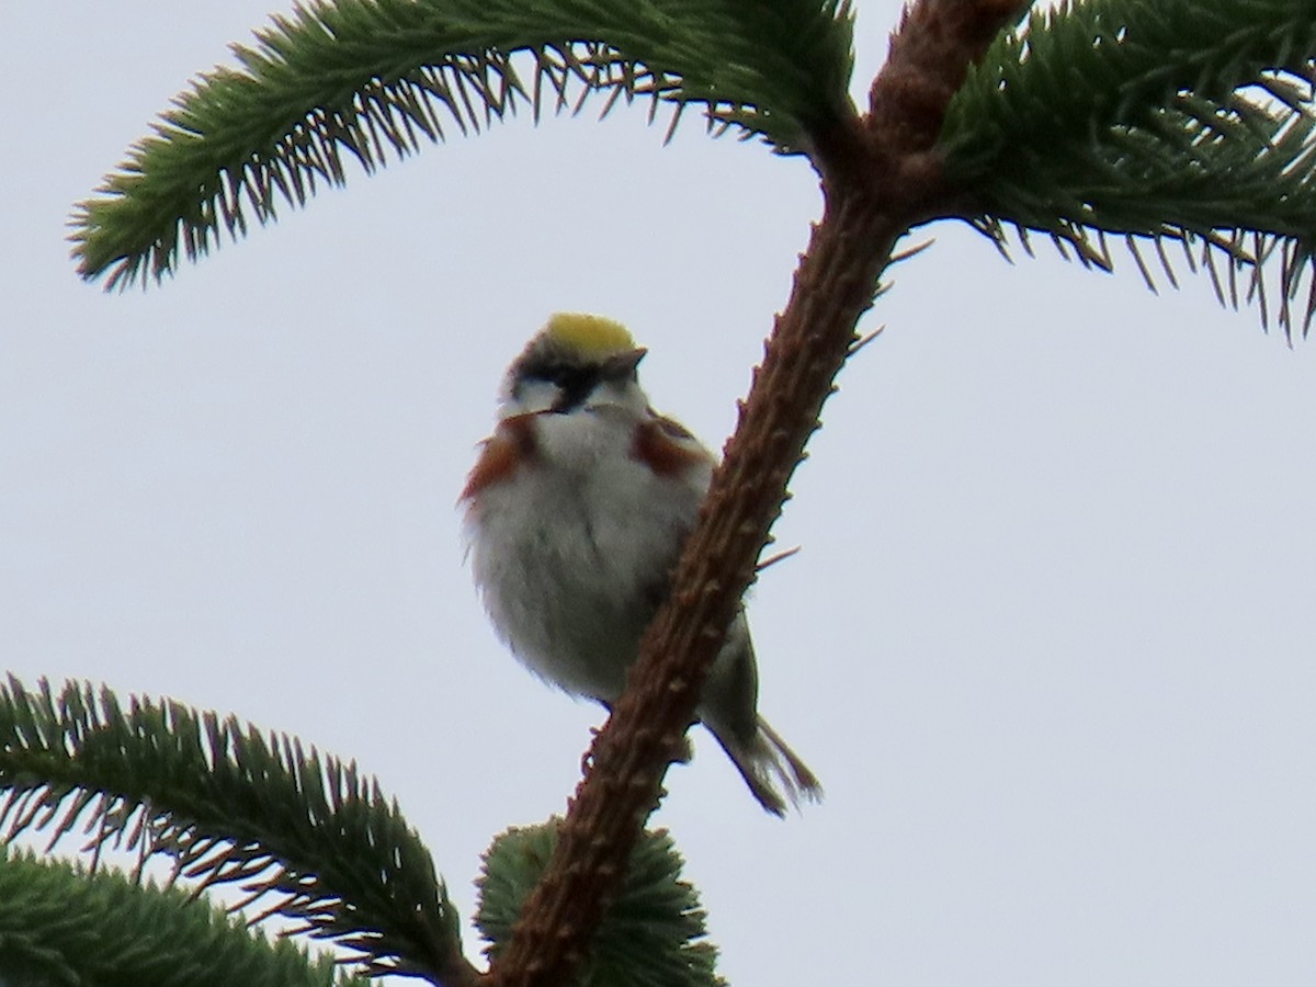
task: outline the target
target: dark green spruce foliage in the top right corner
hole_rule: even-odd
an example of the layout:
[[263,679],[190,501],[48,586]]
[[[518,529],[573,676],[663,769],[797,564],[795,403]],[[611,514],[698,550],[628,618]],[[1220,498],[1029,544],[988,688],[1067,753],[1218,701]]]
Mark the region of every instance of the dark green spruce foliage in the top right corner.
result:
[[[961,215],[1149,287],[1174,265],[1305,336],[1316,313],[1316,0],[1088,0],[999,38],[940,149]],[[959,211],[957,211],[959,212]],[[1142,251],[1150,255],[1150,263]],[[1304,284],[1308,291],[1299,300]],[[1296,304],[1295,304],[1296,303]]]

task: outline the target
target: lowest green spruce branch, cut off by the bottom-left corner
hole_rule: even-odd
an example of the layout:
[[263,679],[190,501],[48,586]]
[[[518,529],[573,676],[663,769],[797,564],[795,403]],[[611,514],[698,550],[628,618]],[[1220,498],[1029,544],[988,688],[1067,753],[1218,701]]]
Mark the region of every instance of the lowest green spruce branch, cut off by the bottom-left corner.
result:
[[333,957],[265,940],[180,888],[0,844],[0,983],[366,987]]

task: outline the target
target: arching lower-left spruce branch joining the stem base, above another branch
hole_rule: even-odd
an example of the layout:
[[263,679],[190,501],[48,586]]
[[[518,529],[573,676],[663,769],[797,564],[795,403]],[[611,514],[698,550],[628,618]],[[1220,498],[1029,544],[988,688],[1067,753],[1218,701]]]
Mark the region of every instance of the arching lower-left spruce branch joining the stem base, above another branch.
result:
[[76,828],[84,850],[172,858],[197,891],[236,883],[293,933],[333,940],[367,974],[474,982],[429,851],[372,779],[236,719],[68,683],[0,687],[0,826]]

